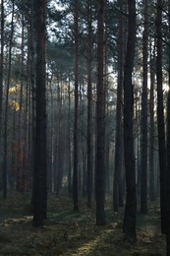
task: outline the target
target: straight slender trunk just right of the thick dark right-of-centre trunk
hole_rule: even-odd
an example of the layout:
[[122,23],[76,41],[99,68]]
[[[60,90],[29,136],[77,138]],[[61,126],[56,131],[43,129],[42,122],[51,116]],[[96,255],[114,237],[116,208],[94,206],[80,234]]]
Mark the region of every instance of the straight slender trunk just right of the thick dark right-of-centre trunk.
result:
[[148,1],[143,2],[144,30],[142,34],[142,186],[141,213],[147,214],[147,58],[148,58]]

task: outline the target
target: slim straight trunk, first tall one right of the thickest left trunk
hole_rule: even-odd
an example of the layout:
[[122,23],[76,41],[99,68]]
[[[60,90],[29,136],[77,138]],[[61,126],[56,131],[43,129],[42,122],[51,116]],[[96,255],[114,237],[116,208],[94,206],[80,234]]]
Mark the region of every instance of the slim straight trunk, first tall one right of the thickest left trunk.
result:
[[74,211],[78,205],[78,104],[79,104],[79,0],[75,0],[75,123],[74,123],[74,172],[73,172],[73,199]]

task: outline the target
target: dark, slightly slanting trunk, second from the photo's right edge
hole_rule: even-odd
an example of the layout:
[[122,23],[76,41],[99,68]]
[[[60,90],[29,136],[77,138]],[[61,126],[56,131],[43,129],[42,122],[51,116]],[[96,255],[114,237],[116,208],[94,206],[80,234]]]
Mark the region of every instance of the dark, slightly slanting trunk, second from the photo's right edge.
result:
[[161,230],[166,233],[166,149],[165,149],[165,125],[164,105],[162,90],[162,0],[157,0],[156,33],[157,33],[157,126],[159,146],[159,171],[160,171],[160,211]]

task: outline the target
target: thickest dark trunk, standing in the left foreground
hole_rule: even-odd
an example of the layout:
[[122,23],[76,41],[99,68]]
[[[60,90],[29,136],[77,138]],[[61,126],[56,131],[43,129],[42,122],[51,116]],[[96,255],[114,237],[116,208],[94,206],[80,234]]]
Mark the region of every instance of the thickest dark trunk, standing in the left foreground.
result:
[[36,127],[33,171],[33,225],[40,226],[46,219],[47,171],[46,171],[46,0],[36,0]]

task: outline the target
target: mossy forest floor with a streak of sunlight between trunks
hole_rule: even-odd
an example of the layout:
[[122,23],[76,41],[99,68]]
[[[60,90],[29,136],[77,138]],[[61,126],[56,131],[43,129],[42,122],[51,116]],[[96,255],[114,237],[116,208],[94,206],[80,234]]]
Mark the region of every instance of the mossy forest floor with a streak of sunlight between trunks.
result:
[[79,213],[74,213],[70,198],[49,196],[48,220],[41,228],[32,227],[29,200],[29,196],[15,194],[0,201],[0,255],[166,255],[158,204],[149,205],[148,215],[138,214],[138,241],[131,244],[122,232],[123,210],[114,214],[109,199],[107,224],[96,226],[95,209],[87,210],[84,199]]

